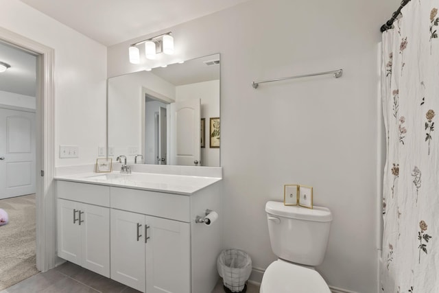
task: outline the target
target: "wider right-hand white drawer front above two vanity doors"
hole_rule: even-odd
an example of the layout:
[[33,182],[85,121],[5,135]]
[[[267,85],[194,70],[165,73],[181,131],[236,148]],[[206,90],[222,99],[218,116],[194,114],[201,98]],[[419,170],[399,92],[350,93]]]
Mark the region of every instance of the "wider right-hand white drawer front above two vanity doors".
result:
[[191,222],[189,196],[119,187],[110,187],[110,194],[114,209]]

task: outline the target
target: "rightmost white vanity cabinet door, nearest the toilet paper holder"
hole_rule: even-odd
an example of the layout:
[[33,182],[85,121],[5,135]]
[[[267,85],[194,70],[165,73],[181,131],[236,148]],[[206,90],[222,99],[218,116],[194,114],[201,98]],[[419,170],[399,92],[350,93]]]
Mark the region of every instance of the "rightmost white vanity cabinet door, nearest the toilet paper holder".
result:
[[191,292],[190,224],[145,216],[146,292]]

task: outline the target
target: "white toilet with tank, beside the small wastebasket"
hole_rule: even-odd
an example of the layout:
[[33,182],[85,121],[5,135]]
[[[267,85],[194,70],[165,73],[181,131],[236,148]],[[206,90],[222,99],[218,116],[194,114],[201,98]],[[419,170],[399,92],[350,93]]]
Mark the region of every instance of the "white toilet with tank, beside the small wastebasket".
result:
[[278,256],[265,270],[260,293],[331,293],[313,269],[324,259],[332,215],[326,207],[307,209],[265,204],[272,250]]

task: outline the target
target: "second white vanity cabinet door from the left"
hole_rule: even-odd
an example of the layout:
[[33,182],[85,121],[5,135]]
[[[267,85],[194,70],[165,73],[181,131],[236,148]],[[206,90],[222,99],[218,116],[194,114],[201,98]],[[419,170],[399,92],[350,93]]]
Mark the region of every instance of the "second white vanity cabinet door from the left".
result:
[[82,204],[80,213],[82,266],[110,277],[110,209]]

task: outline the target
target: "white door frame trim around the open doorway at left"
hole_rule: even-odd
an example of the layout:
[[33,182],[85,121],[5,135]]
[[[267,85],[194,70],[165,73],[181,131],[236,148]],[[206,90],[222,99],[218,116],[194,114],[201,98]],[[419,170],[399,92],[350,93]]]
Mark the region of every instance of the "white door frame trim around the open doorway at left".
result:
[[[56,263],[54,49],[0,27],[0,40],[37,57],[36,67],[36,268]],[[41,172],[41,174],[40,174]]]

